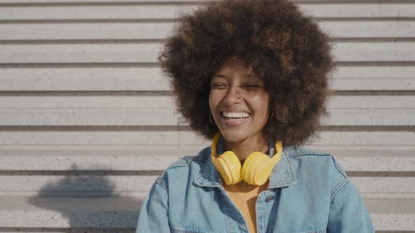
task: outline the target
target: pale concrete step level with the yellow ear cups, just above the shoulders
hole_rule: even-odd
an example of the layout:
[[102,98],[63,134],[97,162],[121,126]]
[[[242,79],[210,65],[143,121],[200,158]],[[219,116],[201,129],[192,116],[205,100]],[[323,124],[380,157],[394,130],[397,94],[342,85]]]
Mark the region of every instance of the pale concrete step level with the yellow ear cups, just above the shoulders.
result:
[[[319,151],[319,150],[316,150]],[[349,172],[414,172],[413,150],[324,149]],[[163,171],[198,151],[151,149],[0,149],[0,171]]]

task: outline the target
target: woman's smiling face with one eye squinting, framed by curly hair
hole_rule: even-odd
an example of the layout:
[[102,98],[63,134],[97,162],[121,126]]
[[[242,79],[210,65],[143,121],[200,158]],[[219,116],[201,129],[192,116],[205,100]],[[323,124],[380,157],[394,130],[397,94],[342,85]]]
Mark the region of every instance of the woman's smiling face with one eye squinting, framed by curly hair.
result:
[[269,119],[269,94],[264,82],[243,60],[231,57],[212,74],[209,107],[225,140],[263,137]]

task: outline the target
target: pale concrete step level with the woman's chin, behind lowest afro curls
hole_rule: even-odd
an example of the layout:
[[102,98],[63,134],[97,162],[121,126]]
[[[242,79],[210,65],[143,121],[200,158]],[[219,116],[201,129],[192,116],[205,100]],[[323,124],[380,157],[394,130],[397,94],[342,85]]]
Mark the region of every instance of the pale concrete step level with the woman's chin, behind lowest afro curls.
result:
[[[180,126],[52,126],[4,127],[0,131],[2,147],[203,147],[210,145],[193,131]],[[415,149],[415,133],[411,128],[336,127],[317,131],[312,145],[319,147],[373,147],[380,149]],[[196,151],[197,152],[197,151]]]

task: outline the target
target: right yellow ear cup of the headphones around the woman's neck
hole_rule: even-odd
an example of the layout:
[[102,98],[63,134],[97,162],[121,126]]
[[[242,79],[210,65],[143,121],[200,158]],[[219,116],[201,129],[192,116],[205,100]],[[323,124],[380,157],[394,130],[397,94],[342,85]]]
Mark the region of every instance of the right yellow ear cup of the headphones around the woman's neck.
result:
[[266,173],[263,173],[264,168],[269,164],[270,158],[267,154],[262,152],[253,152],[245,159],[241,169],[241,176],[243,180],[251,185],[264,185],[269,178]]

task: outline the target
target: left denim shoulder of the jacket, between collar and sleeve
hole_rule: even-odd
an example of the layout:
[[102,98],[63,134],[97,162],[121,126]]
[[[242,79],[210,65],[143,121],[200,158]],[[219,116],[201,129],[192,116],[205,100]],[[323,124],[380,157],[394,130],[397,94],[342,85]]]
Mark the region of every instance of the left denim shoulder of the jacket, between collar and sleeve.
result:
[[183,176],[187,178],[191,173],[195,174],[205,166],[206,161],[210,157],[210,147],[205,147],[200,150],[198,154],[194,156],[184,156],[170,164],[165,171],[162,172],[160,177],[156,180],[159,185],[167,189],[167,182],[169,181],[169,175],[174,175],[175,178]]

